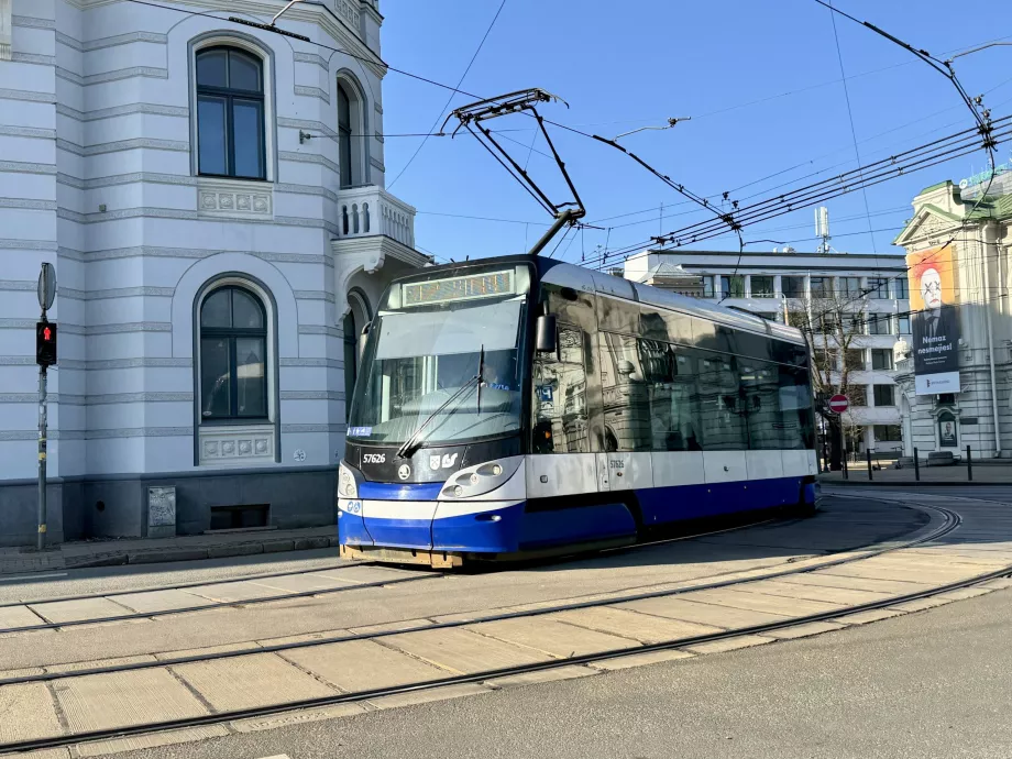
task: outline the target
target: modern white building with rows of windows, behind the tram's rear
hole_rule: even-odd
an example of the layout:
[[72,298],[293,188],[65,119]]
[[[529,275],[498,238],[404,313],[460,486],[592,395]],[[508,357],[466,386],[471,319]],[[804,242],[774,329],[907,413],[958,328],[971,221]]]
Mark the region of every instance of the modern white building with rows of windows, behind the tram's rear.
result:
[[902,255],[645,251],[620,274],[773,321],[787,314],[792,323],[811,323],[816,371],[836,387],[846,380],[848,450],[901,449],[893,349],[910,333]]

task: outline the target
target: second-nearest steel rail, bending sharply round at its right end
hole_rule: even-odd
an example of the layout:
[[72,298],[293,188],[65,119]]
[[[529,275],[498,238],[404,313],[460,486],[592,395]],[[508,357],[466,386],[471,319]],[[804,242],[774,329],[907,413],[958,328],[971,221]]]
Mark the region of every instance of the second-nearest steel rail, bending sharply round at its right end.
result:
[[[873,499],[873,498],[869,498]],[[887,503],[887,502],[882,502]],[[895,504],[890,504],[895,505]],[[176,657],[173,659],[158,659],[153,661],[136,661],[124,664],[112,664],[108,667],[92,667],[88,669],[77,669],[72,672],[42,672],[38,674],[28,674],[15,678],[3,678],[0,679],[0,686],[3,685],[15,685],[15,684],[25,684],[25,683],[38,683],[38,682],[52,682],[56,680],[68,680],[73,678],[82,678],[86,675],[92,674],[116,674],[120,672],[130,672],[133,670],[144,670],[144,669],[156,669],[165,667],[177,667],[180,664],[191,664],[197,662],[206,661],[219,661],[222,659],[234,659],[238,657],[246,657],[256,653],[277,653],[280,651],[292,651],[300,648],[315,648],[318,646],[329,646],[332,644],[342,644],[349,642],[351,640],[375,640],[376,638],[386,638],[394,635],[409,635],[413,632],[422,632],[430,630],[441,630],[441,629],[451,629],[455,627],[464,627],[468,625],[479,625],[493,622],[505,622],[507,619],[520,619],[528,617],[538,617],[547,614],[557,614],[560,612],[571,612],[583,608],[595,608],[601,606],[613,606],[616,604],[626,604],[635,601],[648,601],[650,598],[666,598],[676,595],[684,595],[686,593],[696,593],[701,591],[711,591],[724,587],[730,587],[735,585],[746,585],[755,582],[762,582],[766,580],[777,580],[779,578],[785,578],[796,574],[805,574],[809,572],[817,572],[824,569],[831,569],[834,566],[840,566],[843,564],[848,564],[855,561],[864,561],[866,559],[873,559],[878,556],[889,553],[892,551],[898,551],[906,548],[914,548],[921,546],[925,542],[932,540],[937,540],[945,535],[948,535],[953,530],[957,529],[961,524],[961,518],[958,514],[949,512],[946,508],[939,506],[922,506],[922,508],[931,508],[935,512],[938,512],[945,518],[942,525],[932,530],[930,534],[924,535],[915,540],[901,543],[899,546],[886,547],[878,550],[862,551],[860,556],[855,557],[842,557],[839,559],[834,559],[831,561],[824,561],[812,566],[795,566],[788,570],[779,570],[774,572],[768,572],[754,578],[738,578],[738,579],[728,579],[719,580],[717,582],[710,583],[695,583],[680,585],[679,587],[662,590],[662,591],[648,591],[646,593],[636,593],[630,595],[620,595],[612,598],[597,598],[592,601],[578,601],[569,604],[557,604],[554,606],[540,607],[535,609],[521,609],[518,612],[503,612],[499,614],[492,614],[485,616],[475,616],[469,618],[461,618],[455,620],[439,622],[439,623],[429,623],[426,625],[415,625],[414,627],[403,627],[397,629],[389,630],[375,630],[372,632],[360,634],[360,635],[340,635],[331,636],[327,638],[317,638],[314,640],[298,640],[287,644],[275,644],[271,646],[258,646],[256,648],[243,648],[235,649],[231,651],[220,651],[215,653],[198,653],[188,657]],[[693,581],[689,581],[692,583]]]

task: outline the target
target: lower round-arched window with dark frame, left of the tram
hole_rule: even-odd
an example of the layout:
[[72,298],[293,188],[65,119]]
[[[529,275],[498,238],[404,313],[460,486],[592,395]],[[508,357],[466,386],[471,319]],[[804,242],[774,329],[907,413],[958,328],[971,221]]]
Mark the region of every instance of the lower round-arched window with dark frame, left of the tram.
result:
[[267,319],[250,290],[213,290],[200,307],[201,417],[267,418]]

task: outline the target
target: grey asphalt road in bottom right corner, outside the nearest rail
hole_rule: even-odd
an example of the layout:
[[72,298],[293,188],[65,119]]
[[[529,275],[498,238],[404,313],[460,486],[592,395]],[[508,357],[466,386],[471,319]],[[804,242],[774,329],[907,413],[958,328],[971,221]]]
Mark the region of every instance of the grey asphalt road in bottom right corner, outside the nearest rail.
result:
[[1000,591],[815,638],[118,756],[1008,757],[1010,602]]

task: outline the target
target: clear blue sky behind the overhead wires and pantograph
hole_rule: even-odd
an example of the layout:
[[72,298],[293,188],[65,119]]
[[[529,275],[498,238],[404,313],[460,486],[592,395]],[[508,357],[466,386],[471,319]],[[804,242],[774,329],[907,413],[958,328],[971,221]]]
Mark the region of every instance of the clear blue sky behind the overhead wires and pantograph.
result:
[[[453,85],[499,2],[384,0],[383,56],[393,66]],[[989,3],[987,13],[960,11],[941,0],[835,4],[939,57],[1007,35],[1012,40],[1012,3]],[[925,64],[842,16],[836,26],[864,163],[972,125],[952,85]],[[1012,47],[960,58],[956,70],[970,95],[987,92],[994,116],[1012,112]],[[623,144],[701,195],[749,185],[730,197],[763,198],[776,185],[798,187],[858,165],[831,12],[814,0],[506,0],[461,88],[487,97],[527,87],[541,87],[569,102],[568,109],[543,106],[544,117],[605,136],[663,123],[668,117],[692,117],[672,130],[641,132]],[[384,84],[384,131],[427,132],[448,96],[391,72]],[[451,108],[468,101],[458,95]],[[530,120],[509,117],[495,128],[518,130],[505,134],[522,144],[505,144],[526,160],[535,136]],[[619,153],[558,129],[551,134],[583,197],[586,220],[612,227],[610,232],[588,229],[575,235],[566,260],[579,262],[582,251],[591,256],[606,240],[615,250],[706,218]],[[387,138],[388,185],[419,142]],[[553,163],[539,154],[547,151],[543,141],[534,145],[531,174],[560,195]],[[999,161],[1009,155],[1008,145],[999,147]],[[859,191],[831,200],[834,248],[898,252],[890,243],[911,216],[920,189],[944,179],[958,182],[985,167],[981,153],[870,188],[870,219]],[[803,178],[818,169],[826,170]],[[440,261],[521,252],[550,222],[469,135],[430,139],[393,193],[418,209],[417,242]],[[817,244],[811,209],[748,228],[745,237],[791,242],[799,251]],[[726,237],[695,246],[737,250],[737,240]],[[560,248],[557,256],[562,253]]]

